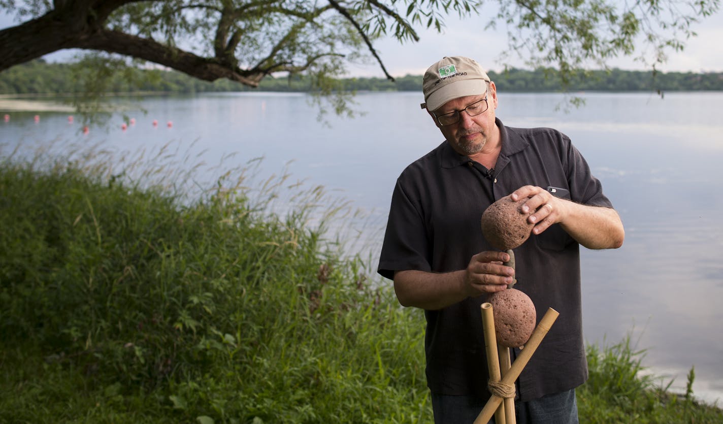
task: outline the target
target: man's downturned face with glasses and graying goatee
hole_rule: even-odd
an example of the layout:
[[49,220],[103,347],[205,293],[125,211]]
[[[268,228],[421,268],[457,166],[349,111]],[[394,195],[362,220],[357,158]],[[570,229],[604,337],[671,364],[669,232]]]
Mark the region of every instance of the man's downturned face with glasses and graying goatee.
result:
[[[494,82],[489,85],[487,90],[487,103],[489,106],[487,111],[476,116],[469,116],[466,111],[463,111],[467,106],[484,98],[484,95],[455,98],[434,111],[436,116],[459,111],[460,119],[456,124],[440,125],[437,119],[435,119],[435,124],[452,145],[452,148],[461,155],[471,156],[482,152],[482,149],[489,141],[489,137],[494,134],[495,109],[497,109],[497,90]],[[494,148],[495,146],[487,145],[487,147]]]

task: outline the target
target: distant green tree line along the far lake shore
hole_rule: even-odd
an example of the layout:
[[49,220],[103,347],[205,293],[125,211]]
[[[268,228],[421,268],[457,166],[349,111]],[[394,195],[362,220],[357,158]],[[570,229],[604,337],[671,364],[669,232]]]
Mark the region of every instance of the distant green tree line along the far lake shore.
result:
[[[38,59],[0,73],[0,94],[61,95],[82,93],[87,84],[78,75],[77,64],[47,63]],[[81,69],[82,70],[82,69]],[[554,72],[509,69],[489,72],[497,88],[505,92],[534,93],[560,91],[562,85]],[[303,76],[267,77],[259,88],[249,88],[230,80],[205,82],[181,72],[161,69],[129,68],[114,75],[106,93],[202,93],[218,91],[306,92],[312,82]],[[349,91],[421,91],[422,75],[406,75],[395,82],[378,77],[351,77],[341,80]],[[612,69],[578,74],[569,85],[571,91],[699,91],[723,90],[723,72],[657,72]]]

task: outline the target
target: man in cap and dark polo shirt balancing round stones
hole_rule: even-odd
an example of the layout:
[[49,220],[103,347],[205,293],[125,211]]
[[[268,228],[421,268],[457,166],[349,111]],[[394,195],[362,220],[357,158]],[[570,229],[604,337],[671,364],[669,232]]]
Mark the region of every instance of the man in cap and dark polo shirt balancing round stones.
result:
[[[574,389],[587,379],[579,245],[620,247],[620,217],[567,136],[495,117],[495,82],[474,60],[433,64],[423,90],[422,108],[445,141],[398,178],[379,272],[394,280],[401,305],[424,309],[435,423],[472,423],[489,399],[479,306],[513,278],[537,321],[547,308],[560,313],[518,379],[518,423],[576,423]],[[526,199],[523,213],[535,211],[516,269],[502,265],[508,254],[489,245],[479,224],[510,193]]]

